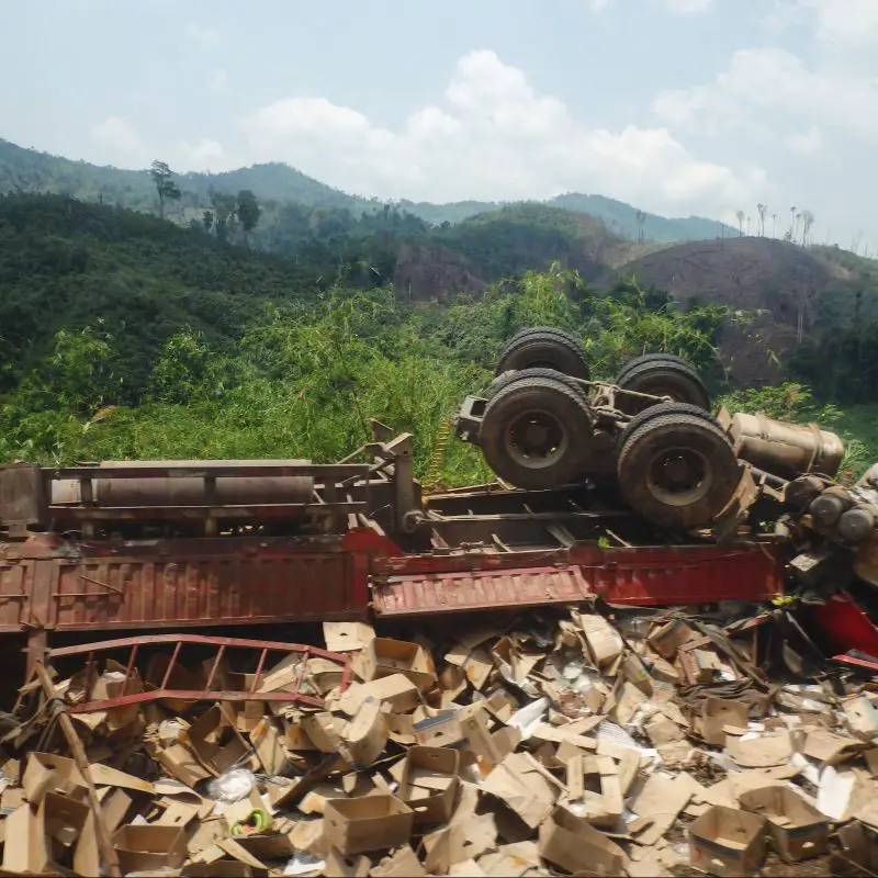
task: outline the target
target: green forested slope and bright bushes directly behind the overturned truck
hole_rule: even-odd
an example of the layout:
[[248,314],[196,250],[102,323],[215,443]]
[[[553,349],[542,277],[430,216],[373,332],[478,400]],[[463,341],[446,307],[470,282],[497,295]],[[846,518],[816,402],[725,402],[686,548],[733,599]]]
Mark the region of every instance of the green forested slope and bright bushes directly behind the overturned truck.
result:
[[[671,351],[714,394],[732,390],[717,349],[746,315],[680,308],[634,279],[600,291],[558,263],[412,303],[373,264],[381,252],[351,239],[259,252],[120,207],[0,196],[0,460],[331,461],[374,417],[414,434],[423,479],[480,481],[480,455],[450,425],[504,340],[532,325],[575,333],[599,378]],[[795,381],[732,402],[844,426]],[[869,453],[854,441],[849,463]]]

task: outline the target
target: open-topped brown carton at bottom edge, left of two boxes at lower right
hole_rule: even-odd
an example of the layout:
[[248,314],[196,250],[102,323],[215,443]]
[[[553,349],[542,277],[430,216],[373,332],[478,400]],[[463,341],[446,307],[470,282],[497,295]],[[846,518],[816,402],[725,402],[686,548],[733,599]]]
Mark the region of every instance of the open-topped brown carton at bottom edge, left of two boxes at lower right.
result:
[[714,804],[689,826],[689,863],[711,875],[756,875],[765,860],[764,828],[758,814]]

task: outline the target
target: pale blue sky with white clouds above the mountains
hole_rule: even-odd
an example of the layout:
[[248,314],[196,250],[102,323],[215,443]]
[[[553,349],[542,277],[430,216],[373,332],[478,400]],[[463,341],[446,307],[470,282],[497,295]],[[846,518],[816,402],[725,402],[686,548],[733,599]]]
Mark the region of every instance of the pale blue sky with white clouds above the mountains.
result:
[[[7,0],[0,137],[878,245],[878,0]],[[776,217],[776,218],[774,218]]]

